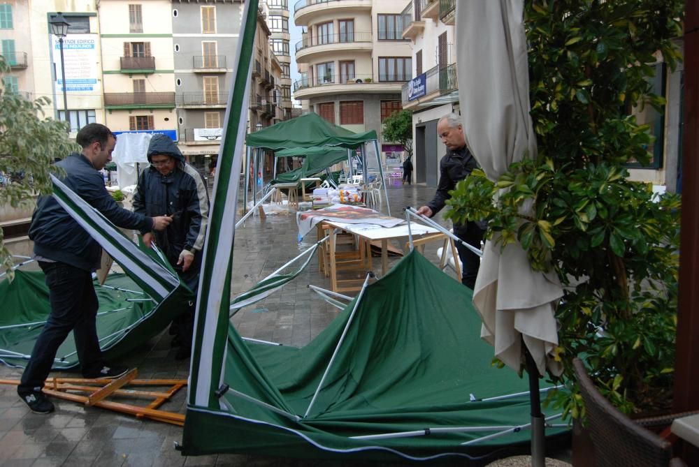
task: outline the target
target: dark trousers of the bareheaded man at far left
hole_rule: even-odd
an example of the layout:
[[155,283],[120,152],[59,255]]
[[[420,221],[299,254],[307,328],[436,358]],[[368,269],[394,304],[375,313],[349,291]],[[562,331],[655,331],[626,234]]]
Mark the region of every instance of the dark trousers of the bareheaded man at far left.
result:
[[17,390],[28,392],[44,385],[58,348],[73,331],[82,373],[99,371],[103,365],[95,319],[99,304],[92,285],[92,274],[64,262],[39,265],[46,276],[51,312],[31,351]]

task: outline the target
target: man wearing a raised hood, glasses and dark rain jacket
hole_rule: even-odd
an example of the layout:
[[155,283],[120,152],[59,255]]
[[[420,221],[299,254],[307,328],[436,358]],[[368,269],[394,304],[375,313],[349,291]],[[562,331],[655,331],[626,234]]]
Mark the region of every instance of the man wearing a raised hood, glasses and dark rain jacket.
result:
[[[172,216],[162,232],[144,232],[143,242],[162,249],[182,282],[196,293],[209,216],[209,196],[199,172],[185,162],[177,145],[166,135],[154,135],[147,152],[150,168],[138,179],[134,211],[146,216]],[[185,359],[192,351],[194,302],[189,310],[173,320],[175,343],[180,348],[175,359]]]

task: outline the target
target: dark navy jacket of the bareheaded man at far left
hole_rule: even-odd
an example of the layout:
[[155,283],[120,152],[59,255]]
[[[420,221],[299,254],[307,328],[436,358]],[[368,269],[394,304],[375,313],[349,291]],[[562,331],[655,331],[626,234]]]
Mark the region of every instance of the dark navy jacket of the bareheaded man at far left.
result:
[[[56,164],[66,176],[62,181],[83,200],[122,228],[150,230],[151,218],[122,209],[104,187],[101,173],[82,154],[71,154]],[[101,246],[80,227],[53,196],[41,196],[31,216],[29,238],[34,253],[43,258],[65,262],[86,271],[99,267]]]

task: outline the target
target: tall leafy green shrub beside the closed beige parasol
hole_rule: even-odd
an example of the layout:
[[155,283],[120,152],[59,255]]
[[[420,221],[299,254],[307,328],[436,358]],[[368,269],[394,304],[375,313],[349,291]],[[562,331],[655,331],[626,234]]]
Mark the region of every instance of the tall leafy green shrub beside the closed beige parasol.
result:
[[[583,414],[572,358],[625,413],[672,400],[677,312],[679,197],[654,198],[628,179],[647,165],[649,126],[635,111],[663,112],[651,92],[661,55],[673,68],[680,0],[526,2],[535,160],[498,181],[473,172],[456,186],[447,216],[487,219],[487,237],[520,242],[535,270],[554,269],[565,288],[556,311],[556,359],[567,390],[549,403]],[[496,196],[497,195],[497,196]],[[533,204],[533,214],[521,209]]]

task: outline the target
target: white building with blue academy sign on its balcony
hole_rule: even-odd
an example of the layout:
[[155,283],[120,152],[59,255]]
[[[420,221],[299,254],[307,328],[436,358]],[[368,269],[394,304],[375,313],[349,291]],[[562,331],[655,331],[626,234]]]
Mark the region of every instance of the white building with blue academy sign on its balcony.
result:
[[413,0],[403,8],[403,38],[410,39],[414,77],[403,84],[401,105],[412,110],[415,181],[437,186],[446,153],[437,136],[440,117],[459,109],[456,82],[456,0]]

